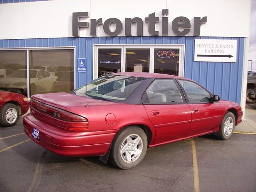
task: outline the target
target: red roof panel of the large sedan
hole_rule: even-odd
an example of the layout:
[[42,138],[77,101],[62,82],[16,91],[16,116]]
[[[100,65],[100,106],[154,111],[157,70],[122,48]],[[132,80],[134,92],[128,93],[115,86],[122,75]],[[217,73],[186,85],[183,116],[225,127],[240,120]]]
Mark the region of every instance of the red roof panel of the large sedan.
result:
[[[124,75],[124,76],[133,76],[133,77],[144,77],[144,78],[169,78],[169,79],[184,79],[190,80],[184,77],[175,76],[175,75],[167,75],[160,73],[147,73],[147,72],[122,72],[122,73],[112,73],[114,75]],[[191,81],[191,80],[190,80]]]

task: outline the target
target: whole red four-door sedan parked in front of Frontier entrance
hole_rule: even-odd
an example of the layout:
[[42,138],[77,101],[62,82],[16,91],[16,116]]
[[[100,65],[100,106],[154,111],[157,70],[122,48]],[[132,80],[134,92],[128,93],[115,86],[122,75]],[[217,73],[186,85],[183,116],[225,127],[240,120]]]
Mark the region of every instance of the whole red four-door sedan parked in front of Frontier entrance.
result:
[[133,72],[33,95],[30,110],[23,124],[34,142],[65,156],[109,157],[122,169],[138,165],[148,147],[210,133],[226,140],[243,114],[192,80]]

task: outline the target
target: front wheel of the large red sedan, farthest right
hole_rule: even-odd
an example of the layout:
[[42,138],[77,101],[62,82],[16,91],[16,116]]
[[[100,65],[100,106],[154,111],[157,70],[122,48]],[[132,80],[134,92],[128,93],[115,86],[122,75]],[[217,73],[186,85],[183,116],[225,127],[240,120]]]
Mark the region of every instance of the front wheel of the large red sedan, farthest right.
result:
[[232,136],[235,126],[236,119],[234,114],[232,112],[227,112],[222,119],[219,135],[217,135],[217,137],[220,140],[228,140]]

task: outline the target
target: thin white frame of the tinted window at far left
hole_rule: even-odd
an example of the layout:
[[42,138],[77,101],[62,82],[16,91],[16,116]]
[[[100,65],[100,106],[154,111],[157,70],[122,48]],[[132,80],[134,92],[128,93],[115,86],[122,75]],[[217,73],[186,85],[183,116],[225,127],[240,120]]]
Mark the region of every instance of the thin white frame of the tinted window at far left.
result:
[[[21,48],[0,48],[0,51],[15,51],[24,50],[26,51],[26,66],[27,66],[27,82],[30,82],[30,50],[74,50],[74,89],[76,88],[76,47],[75,46],[59,46],[59,47],[21,47]],[[29,83],[27,83],[28,85]],[[28,100],[30,100],[30,86],[27,86]]]

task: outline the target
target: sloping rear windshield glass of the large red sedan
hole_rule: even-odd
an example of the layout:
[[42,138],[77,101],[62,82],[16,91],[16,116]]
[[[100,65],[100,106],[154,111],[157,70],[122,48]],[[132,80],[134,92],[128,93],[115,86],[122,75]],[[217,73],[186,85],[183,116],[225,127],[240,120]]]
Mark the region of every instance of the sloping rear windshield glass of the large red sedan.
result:
[[108,75],[100,77],[73,91],[79,96],[120,102],[125,100],[146,78]]

